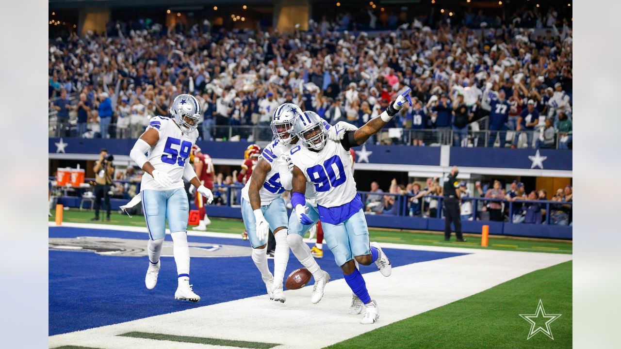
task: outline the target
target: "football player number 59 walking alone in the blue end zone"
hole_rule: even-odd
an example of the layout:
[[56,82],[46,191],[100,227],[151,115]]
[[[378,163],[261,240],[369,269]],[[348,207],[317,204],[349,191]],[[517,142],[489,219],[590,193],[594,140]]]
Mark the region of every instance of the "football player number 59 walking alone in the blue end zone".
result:
[[[155,288],[160,271],[161,247],[166,233],[166,220],[173,237],[173,255],[177,265],[178,288],[175,299],[197,302],[201,299],[189,284],[190,258],[188,249],[188,196],[183,178],[188,180],[197,192],[212,202],[211,191],[201,181],[189,164],[190,150],[196,142],[196,126],[201,119],[201,104],[194,96],[179,94],[170,107],[168,117],[153,117],[147,130],[138,138],[130,157],[145,175],[140,185],[142,209],[147,220],[149,241],[147,250],[149,267],[145,276],[148,289]],[[145,153],[148,152],[148,155]]]

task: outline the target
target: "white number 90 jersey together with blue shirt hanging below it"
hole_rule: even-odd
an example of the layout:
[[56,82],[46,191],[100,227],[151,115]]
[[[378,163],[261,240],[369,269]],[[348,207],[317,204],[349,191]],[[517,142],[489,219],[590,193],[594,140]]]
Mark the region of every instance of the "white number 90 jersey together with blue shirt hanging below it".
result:
[[291,161],[312,186],[319,218],[322,222],[339,224],[363,206],[356,192],[351,171],[350,146],[346,137],[341,142],[326,140],[324,148],[314,152],[297,145],[291,148]]

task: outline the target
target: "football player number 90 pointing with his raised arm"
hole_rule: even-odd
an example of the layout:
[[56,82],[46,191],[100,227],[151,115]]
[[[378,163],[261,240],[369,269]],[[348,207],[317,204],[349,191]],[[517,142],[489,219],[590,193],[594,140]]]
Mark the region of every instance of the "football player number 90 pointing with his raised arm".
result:
[[391,274],[391,263],[378,243],[369,243],[363,203],[356,193],[351,174],[351,147],[362,145],[379,132],[406,102],[412,105],[410,90],[402,93],[379,116],[355,131],[346,131],[340,142],[328,140],[323,120],[314,112],[305,112],[294,124],[294,132],[302,145],[291,148],[292,174],[291,205],[301,224],[313,223],[306,206],[307,184],[314,189],[324,238],[351,291],[365,304],[361,324],[373,324],[379,318],[378,304],[371,299],[365,279],[356,268],[376,263],[381,274]]

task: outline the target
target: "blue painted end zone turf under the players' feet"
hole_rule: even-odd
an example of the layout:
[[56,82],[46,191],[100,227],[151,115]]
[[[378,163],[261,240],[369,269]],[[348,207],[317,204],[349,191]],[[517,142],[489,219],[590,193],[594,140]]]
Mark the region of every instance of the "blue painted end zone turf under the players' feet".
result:
[[[145,240],[147,234],[117,230],[53,227],[49,237],[115,237]],[[166,240],[171,240],[166,235]],[[250,247],[248,240],[189,236],[190,242],[217,243]],[[325,247],[325,245],[324,245]],[[467,253],[428,252],[384,248],[392,266],[437,260]],[[118,324],[153,315],[161,315],[194,307],[209,306],[265,294],[250,256],[192,258],[190,283],[201,296],[197,303],[174,299],[177,288],[175,260],[162,257],[160,277],[155,289],[145,288],[147,257],[101,256],[93,252],[49,252],[49,335]],[[317,260],[332,279],[343,278],[332,252],[324,248],[324,258]],[[273,260],[268,261],[270,271]],[[293,253],[285,275],[300,268]],[[376,266],[361,266],[361,273],[377,271]],[[285,276],[286,277],[286,276]],[[310,296],[310,293],[309,293]]]

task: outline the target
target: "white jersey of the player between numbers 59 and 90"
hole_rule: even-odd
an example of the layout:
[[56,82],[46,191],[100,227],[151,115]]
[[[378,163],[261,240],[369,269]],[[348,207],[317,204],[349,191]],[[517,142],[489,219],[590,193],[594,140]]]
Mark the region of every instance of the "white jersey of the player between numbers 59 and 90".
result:
[[[281,163],[278,160],[283,152],[286,152],[287,149],[283,147],[283,144],[278,142],[278,140],[274,140],[270,144],[266,145],[263,148],[263,152],[259,156],[259,161],[261,158],[265,159],[270,163],[270,172],[268,172],[265,176],[265,183],[259,189],[259,196],[261,197],[261,206],[269,205],[273,199],[279,197],[283,194],[285,189],[280,183],[280,173],[278,172],[278,166],[286,166],[286,164]],[[255,171],[252,172],[253,174]],[[250,181],[252,180],[252,176],[246,182],[246,185],[242,188],[242,197],[246,201],[250,202],[250,197],[248,196],[248,188],[250,188]]]

